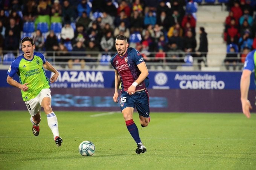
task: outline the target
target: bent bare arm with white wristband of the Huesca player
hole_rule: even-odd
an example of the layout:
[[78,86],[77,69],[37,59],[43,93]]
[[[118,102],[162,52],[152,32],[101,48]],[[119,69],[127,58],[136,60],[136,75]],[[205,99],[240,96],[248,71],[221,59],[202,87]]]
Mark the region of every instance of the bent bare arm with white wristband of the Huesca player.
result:
[[[139,63],[138,65],[137,65],[137,67],[139,68],[139,70],[140,70],[140,75],[139,75],[139,77],[137,78],[137,80],[135,80],[134,82],[135,82],[135,84],[140,84],[143,80],[145,80],[145,78],[148,76],[148,68],[147,68],[147,66],[146,66],[146,63],[143,61],[143,62],[141,62],[141,63]],[[136,85],[136,86],[137,86]],[[135,90],[136,90],[136,86],[134,86],[133,84],[128,88],[128,90],[127,90],[127,93],[129,94],[129,95],[132,95],[132,94],[134,94],[135,93]]]

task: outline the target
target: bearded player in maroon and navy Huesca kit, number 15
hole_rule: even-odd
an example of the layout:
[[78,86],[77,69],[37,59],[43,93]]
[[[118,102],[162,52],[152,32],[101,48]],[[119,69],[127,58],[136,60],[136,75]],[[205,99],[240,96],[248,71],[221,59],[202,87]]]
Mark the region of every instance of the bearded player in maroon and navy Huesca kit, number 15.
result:
[[124,35],[116,37],[116,50],[110,62],[115,71],[115,92],[113,101],[118,102],[118,89],[121,84],[120,108],[125,119],[126,127],[137,143],[136,153],[146,152],[142,144],[139,130],[133,121],[134,108],[139,113],[142,127],[148,126],[149,117],[149,95],[146,87],[149,85],[148,68],[143,57],[135,48],[128,48],[129,44]]

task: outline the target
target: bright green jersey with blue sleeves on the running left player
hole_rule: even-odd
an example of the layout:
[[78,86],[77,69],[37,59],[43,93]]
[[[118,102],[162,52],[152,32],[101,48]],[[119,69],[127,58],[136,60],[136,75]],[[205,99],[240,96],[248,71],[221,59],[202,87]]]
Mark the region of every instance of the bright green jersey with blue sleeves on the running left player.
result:
[[28,83],[29,89],[24,92],[21,90],[23,101],[35,98],[42,89],[50,88],[50,80],[46,77],[43,64],[46,59],[42,53],[34,52],[32,60],[27,60],[23,56],[18,56],[7,71],[10,77],[18,74],[21,84]]

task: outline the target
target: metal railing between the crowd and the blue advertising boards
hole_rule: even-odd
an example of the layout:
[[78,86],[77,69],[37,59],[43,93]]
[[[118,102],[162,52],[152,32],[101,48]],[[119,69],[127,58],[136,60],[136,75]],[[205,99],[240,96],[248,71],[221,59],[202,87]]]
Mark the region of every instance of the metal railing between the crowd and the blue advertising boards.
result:
[[[6,53],[12,52],[15,56],[19,56],[23,54],[22,51],[3,51],[3,54],[0,54],[0,69],[8,69],[9,65],[3,63],[3,56]],[[44,54],[46,60],[52,63],[57,69],[81,69],[81,65],[78,62],[73,62],[73,68],[69,68],[68,60],[80,59],[85,60],[85,67],[84,70],[94,69],[94,70],[111,70],[113,69],[110,64],[111,56],[116,53],[116,51],[108,52],[107,54],[104,52],[94,51],[94,52],[78,52],[78,51],[68,51],[70,56],[60,56],[57,55],[59,51],[39,51]],[[52,55],[49,55],[52,54]],[[88,54],[94,54],[94,57],[88,56]],[[204,60],[203,57],[198,57],[198,53],[185,53],[185,52],[165,52],[164,55],[161,57],[156,57],[157,52],[149,52],[149,55],[146,56],[145,62],[148,66],[148,69],[151,71],[199,71],[199,65],[201,65],[202,71],[226,71],[226,65],[224,60],[221,62],[212,62],[213,60],[219,60],[218,57],[214,59],[211,57],[211,62],[207,62],[207,67],[204,65],[203,62],[198,63],[198,60]],[[203,54],[203,53],[202,53]],[[240,71],[244,65],[241,62],[241,54],[238,53],[238,57],[229,57],[225,58],[226,53],[218,54],[224,56],[223,59],[229,60],[236,60],[236,71]],[[104,56],[105,55],[105,56]],[[108,57],[106,57],[106,55]],[[142,53],[143,55],[143,53]],[[172,57],[173,55],[180,56],[177,58]],[[217,55],[217,54],[216,54]],[[102,56],[104,56],[104,61],[102,62]],[[143,55],[144,56],[144,55]],[[194,56],[194,57],[192,57]],[[66,60],[66,62],[60,62],[59,59]],[[87,62],[87,60],[94,60],[93,62]],[[216,65],[216,63],[221,63],[220,65]],[[233,66],[230,64],[229,66]],[[230,69],[230,71],[235,71]]]

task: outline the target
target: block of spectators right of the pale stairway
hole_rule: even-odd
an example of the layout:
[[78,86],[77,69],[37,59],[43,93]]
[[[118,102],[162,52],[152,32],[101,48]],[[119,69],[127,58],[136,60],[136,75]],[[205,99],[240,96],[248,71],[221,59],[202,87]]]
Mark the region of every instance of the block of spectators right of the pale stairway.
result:
[[227,70],[230,67],[235,70],[237,66],[241,69],[246,55],[256,49],[256,2],[230,1],[227,9],[229,15],[226,17],[224,30],[227,54],[224,62]]

